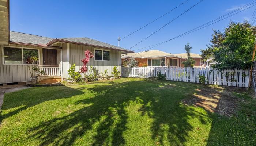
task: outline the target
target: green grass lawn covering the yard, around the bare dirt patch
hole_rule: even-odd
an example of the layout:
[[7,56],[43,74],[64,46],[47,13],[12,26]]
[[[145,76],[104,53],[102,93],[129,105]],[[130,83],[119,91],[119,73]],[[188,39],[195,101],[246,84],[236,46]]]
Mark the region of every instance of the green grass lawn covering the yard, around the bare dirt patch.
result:
[[123,78],[7,93],[0,145],[255,145],[256,100],[231,93],[231,117],[182,103],[202,88]]

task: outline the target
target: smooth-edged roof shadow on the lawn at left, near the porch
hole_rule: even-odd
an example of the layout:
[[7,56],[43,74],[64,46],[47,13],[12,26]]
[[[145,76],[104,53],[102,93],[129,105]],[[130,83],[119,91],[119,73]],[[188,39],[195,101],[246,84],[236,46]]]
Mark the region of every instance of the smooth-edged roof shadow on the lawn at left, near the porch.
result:
[[[65,91],[65,94],[60,94],[60,92]],[[37,93],[40,94],[37,94]],[[29,107],[33,107],[37,104],[43,103],[45,101],[69,98],[75,95],[84,94],[84,92],[67,87],[67,86],[56,86],[52,87],[34,87],[29,89],[24,89],[22,91],[11,92],[5,94],[3,107],[1,111],[8,110],[11,108],[17,108],[6,114],[1,112],[1,122],[2,120],[18,114],[20,111],[26,110]]]

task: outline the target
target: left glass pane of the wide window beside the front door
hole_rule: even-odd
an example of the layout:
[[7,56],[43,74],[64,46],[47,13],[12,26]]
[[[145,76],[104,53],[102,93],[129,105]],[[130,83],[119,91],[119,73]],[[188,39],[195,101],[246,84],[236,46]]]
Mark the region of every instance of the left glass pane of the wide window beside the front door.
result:
[[4,47],[4,64],[22,64],[22,49]]

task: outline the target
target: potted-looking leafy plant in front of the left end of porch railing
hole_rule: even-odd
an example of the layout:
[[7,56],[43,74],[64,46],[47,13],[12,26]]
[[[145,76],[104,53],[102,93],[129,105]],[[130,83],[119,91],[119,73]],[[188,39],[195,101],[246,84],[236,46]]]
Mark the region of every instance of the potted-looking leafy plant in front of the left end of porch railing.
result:
[[28,68],[30,72],[30,78],[32,79],[32,84],[38,84],[38,78],[40,77],[41,80],[41,76],[45,75],[44,70],[41,70],[39,66],[33,66],[31,70],[31,65],[29,65]]

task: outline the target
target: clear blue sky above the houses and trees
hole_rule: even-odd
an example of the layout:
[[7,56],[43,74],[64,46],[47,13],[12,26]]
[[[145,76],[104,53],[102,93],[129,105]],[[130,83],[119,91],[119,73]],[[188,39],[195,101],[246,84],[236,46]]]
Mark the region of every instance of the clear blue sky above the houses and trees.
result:
[[[51,38],[88,37],[117,46],[118,36],[125,37],[184,1],[10,0],[10,30]],[[120,47],[129,49],[198,1],[189,0],[156,22],[121,40]],[[131,50],[176,37],[250,2],[252,0],[204,0]],[[223,31],[230,20],[242,22],[250,19],[255,7],[154,49],[168,53],[185,53],[184,45],[189,42],[192,46],[191,52],[200,53],[200,49],[205,49],[209,43],[212,29]],[[143,50],[145,49],[138,51]]]

